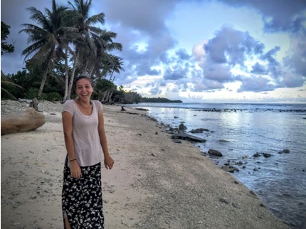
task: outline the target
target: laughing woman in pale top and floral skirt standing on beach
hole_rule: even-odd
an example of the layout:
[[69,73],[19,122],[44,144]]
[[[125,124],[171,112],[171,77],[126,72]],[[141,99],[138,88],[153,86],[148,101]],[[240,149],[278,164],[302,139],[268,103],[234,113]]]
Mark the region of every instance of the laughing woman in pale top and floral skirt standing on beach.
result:
[[90,100],[90,78],[75,80],[75,100],[63,105],[63,132],[67,156],[63,177],[64,228],[104,228],[101,189],[101,147],[106,169],[114,161],[107,149],[102,104]]

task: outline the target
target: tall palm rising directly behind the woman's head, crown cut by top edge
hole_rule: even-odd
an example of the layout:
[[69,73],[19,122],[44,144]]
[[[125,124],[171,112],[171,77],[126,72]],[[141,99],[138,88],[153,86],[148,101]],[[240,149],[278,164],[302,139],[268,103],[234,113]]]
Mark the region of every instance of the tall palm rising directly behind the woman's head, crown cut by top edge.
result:
[[[101,23],[102,25],[105,23],[105,14],[100,13],[97,15],[90,16],[90,10],[92,7],[92,0],[74,0],[73,3],[68,1],[70,5],[70,10],[73,12],[73,19],[70,21],[70,25],[78,28],[78,31],[81,36],[83,36],[83,41],[77,39],[75,41],[75,53],[73,55],[73,70],[70,77],[70,82],[68,85],[68,99],[70,99],[73,80],[75,77],[75,69],[77,68],[80,55],[84,53],[95,54],[95,43],[93,42],[93,38],[99,39],[100,33],[102,33],[102,29],[97,28],[93,25],[96,23]],[[81,63],[82,64],[82,63]]]

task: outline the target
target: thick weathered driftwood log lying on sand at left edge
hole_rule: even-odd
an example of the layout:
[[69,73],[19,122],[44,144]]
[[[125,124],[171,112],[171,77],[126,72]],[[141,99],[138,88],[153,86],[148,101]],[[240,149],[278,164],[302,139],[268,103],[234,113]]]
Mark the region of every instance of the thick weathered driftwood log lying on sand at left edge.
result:
[[45,123],[45,116],[40,112],[36,112],[33,108],[28,108],[25,112],[1,115],[1,135],[35,130]]

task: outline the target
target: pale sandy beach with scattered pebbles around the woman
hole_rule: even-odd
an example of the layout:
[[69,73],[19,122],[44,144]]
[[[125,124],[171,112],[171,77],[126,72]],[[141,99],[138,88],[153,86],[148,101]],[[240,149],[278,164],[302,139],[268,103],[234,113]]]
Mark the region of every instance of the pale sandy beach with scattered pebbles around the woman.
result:
[[[61,105],[52,106],[38,105],[43,127],[1,136],[0,228],[63,228],[66,151]],[[10,111],[5,102],[2,109]],[[174,143],[145,112],[120,109],[104,105],[115,160],[102,168],[105,228],[289,228],[191,142]]]

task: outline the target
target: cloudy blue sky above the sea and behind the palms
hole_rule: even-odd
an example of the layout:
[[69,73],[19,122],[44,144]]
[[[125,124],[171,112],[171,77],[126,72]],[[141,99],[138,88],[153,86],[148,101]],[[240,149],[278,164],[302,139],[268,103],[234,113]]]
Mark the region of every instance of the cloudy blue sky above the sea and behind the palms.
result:
[[[67,1],[58,0],[67,5]],[[0,3],[15,52],[0,58],[4,73],[23,68],[26,11],[50,0]],[[143,97],[183,102],[306,103],[305,0],[93,0],[100,28],[117,33],[125,71],[115,84]]]

